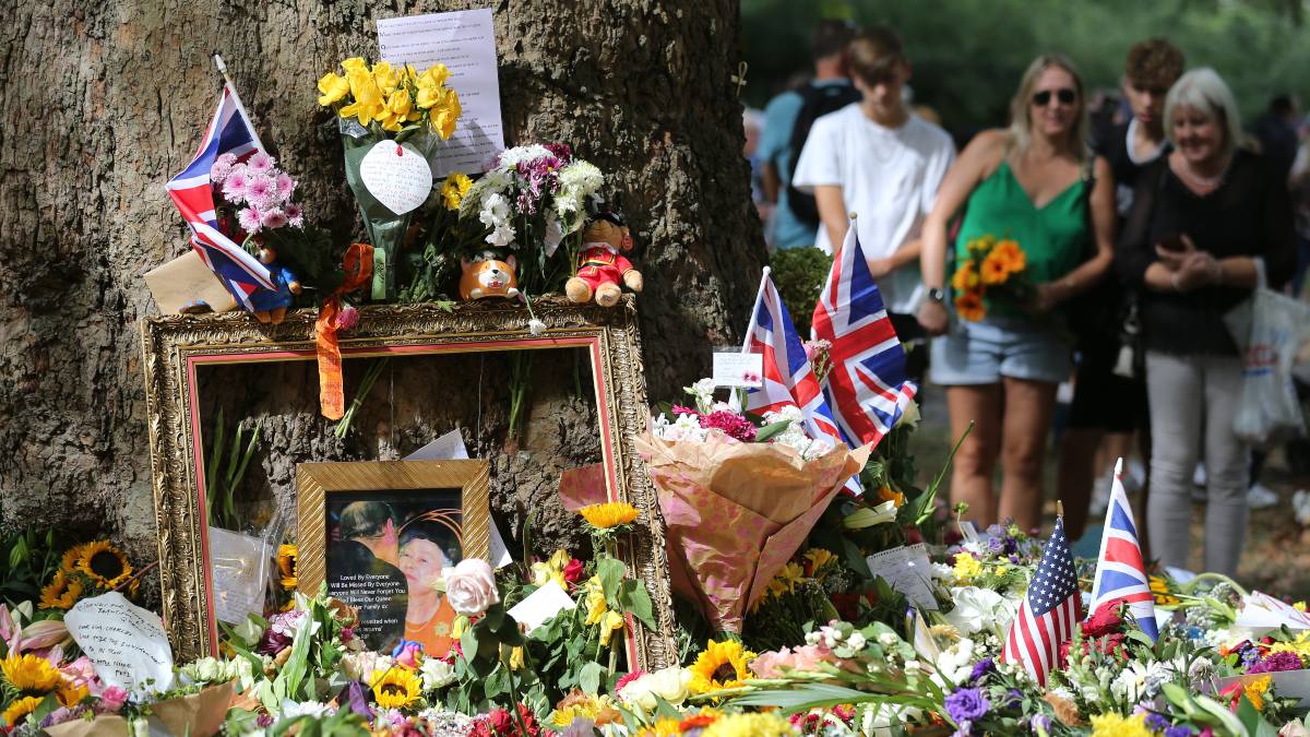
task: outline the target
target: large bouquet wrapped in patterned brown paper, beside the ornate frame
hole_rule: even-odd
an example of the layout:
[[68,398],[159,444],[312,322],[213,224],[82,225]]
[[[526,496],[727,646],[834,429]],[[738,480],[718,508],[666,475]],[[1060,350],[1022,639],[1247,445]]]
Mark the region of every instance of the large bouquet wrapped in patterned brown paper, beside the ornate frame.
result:
[[659,492],[675,590],[714,628],[740,632],[870,447],[806,437],[796,408],[756,420],[709,391],[690,387],[697,409],[660,414],[637,450]]

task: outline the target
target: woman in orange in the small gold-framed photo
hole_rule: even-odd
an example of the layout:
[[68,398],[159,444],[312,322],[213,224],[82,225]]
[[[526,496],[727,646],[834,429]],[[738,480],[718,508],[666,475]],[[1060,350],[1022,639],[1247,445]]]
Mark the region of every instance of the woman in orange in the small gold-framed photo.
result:
[[[428,517],[428,515],[424,515]],[[400,569],[409,585],[405,639],[428,657],[445,657],[455,643],[455,610],[441,591],[441,572],[458,561],[458,538],[445,519],[419,518],[401,531]]]

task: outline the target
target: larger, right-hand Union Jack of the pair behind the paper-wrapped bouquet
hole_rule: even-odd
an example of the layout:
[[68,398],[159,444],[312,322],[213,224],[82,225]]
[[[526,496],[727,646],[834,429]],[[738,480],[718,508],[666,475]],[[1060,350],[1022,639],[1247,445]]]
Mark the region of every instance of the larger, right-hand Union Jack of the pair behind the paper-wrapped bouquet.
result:
[[852,446],[876,445],[914,399],[905,380],[905,350],[887,317],[850,223],[833,256],[828,283],[815,304],[812,334],[832,344],[824,393],[833,418]]

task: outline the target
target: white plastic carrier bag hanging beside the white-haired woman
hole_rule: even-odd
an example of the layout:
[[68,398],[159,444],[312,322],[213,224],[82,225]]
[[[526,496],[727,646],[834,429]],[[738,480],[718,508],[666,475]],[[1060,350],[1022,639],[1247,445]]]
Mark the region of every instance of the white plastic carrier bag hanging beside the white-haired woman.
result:
[[1242,401],[1233,430],[1258,446],[1305,434],[1292,365],[1310,338],[1310,304],[1258,289],[1225,321],[1242,349]]

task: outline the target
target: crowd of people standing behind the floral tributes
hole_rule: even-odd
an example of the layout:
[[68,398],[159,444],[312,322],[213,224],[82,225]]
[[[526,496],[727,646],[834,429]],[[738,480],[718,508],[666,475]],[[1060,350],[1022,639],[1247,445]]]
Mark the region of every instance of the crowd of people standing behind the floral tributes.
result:
[[[973,424],[952,501],[977,525],[1040,526],[1072,384],[1055,489],[1070,539],[1104,509],[1107,458],[1136,450],[1150,555],[1188,568],[1201,473],[1204,568],[1235,573],[1248,505],[1267,500],[1248,500],[1260,456],[1233,431],[1242,357],[1224,315],[1258,286],[1301,289],[1310,155],[1294,98],[1276,97],[1252,135],[1224,79],[1166,39],[1128,50],[1121,97],[1045,54],[1009,125],[958,152],[912,104],[895,31],[824,21],[812,51],[810,80],[747,115],[772,260],[831,254],[857,228],[910,376],[945,393],[955,437]],[[955,264],[985,236],[1019,244],[1032,289],[962,319]]]

